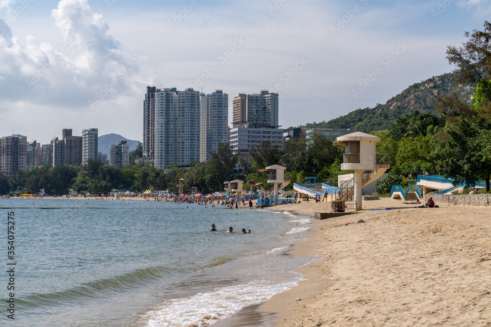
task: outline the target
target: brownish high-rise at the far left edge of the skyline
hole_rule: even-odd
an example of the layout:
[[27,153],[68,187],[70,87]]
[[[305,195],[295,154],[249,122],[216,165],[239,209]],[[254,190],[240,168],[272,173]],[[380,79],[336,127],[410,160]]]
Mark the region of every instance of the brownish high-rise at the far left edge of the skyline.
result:
[[4,175],[17,175],[27,169],[27,137],[14,134],[0,139],[0,170]]

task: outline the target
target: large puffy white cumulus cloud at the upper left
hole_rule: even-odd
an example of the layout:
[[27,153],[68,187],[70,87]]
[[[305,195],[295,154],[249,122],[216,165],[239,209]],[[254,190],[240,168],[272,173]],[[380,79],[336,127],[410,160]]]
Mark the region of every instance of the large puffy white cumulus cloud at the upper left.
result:
[[3,99],[22,96],[33,105],[88,109],[125,92],[143,57],[124,50],[87,0],[61,0],[52,16],[61,31],[59,47],[39,44],[32,36],[21,43],[0,21],[5,36],[0,38],[0,71],[6,78],[0,85],[9,90],[2,92]]

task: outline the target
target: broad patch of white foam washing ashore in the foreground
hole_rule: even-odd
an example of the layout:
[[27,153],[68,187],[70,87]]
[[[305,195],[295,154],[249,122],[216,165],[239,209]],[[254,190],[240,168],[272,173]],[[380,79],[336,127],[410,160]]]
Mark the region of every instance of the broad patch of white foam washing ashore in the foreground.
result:
[[270,299],[302,280],[300,274],[289,273],[274,278],[261,278],[241,285],[218,288],[191,297],[163,302],[143,316],[148,327],[208,326],[247,305]]

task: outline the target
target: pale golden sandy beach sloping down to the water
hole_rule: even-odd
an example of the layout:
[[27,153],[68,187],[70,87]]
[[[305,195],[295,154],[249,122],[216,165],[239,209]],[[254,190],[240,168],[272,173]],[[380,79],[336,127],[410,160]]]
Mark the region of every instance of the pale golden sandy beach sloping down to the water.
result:
[[[363,201],[353,215],[316,220],[314,233],[291,253],[322,258],[298,270],[306,277],[298,286],[256,315],[249,309],[254,323],[241,319],[240,326],[491,325],[490,208],[439,205]],[[392,210],[370,211],[385,207]],[[275,210],[330,211],[329,202]],[[359,219],[366,223],[345,226]]]

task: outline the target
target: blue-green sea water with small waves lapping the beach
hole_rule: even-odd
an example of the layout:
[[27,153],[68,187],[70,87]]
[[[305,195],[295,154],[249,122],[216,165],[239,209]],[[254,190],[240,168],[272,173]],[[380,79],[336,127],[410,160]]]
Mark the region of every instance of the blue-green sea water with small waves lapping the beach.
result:
[[[212,325],[295,286],[294,270],[314,259],[287,253],[311,222],[287,212],[84,199],[0,207],[1,326]],[[6,263],[16,263],[15,320],[6,318]]]

